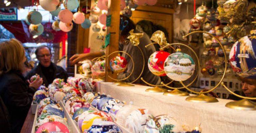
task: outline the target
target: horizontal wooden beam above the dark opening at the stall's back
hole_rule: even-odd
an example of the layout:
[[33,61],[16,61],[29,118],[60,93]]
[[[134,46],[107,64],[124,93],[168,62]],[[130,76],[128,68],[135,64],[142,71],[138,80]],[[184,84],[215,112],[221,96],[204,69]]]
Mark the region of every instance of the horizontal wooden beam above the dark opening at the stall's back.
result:
[[173,14],[174,10],[170,8],[156,7],[156,6],[138,6],[135,10],[138,11],[148,11],[164,14]]

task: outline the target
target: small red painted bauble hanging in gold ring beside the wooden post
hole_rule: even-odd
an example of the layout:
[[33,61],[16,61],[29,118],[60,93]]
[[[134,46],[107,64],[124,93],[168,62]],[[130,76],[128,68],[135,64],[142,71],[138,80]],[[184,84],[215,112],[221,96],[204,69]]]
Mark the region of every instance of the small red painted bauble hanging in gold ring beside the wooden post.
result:
[[110,60],[110,68],[116,73],[124,72],[127,68],[127,61],[120,55],[115,56]]

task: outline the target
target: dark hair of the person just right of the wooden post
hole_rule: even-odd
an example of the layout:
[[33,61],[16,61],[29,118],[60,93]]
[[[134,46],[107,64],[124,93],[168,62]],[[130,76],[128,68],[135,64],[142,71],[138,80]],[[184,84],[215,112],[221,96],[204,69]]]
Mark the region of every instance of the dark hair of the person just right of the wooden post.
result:
[[120,25],[119,26],[123,26],[123,24],[121,24],[121,18],[123,18],[123,22],[128,21],[128,25],[124,28],[123,31],[121,31],[121,35],[127,36],[131,30],[135,30],[136,26],[130,18],[123,16],[123,15],[120,15]]

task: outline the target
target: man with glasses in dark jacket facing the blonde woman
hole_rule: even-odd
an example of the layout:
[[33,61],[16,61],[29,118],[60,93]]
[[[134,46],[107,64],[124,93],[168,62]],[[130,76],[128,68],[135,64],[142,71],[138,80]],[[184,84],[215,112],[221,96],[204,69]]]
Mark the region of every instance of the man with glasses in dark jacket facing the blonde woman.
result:
[[29,80],[33,75],[38,74],[43,78],[46,87],[56,78],[64,79],[66,82],[67,72],[51,62],[52,53],[48,46],[37,47],[35,54],[39,64],[27,74],[26,79]]

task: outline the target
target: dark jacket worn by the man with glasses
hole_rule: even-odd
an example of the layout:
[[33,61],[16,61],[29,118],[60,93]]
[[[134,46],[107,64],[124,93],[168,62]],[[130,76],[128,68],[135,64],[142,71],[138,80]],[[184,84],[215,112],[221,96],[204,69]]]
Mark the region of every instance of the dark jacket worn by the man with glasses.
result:
[[[66,82],[67,78],[68,78],[68,74],[67,72],[61,67],[61,66],[57,66],[54,63],[51,62],[50,67],[53,67],[53,72],[49,73],[49,75],[47,76],[53,76],[53,79],[56,78],[60,78],[60,79],[64,79],[64,81]],[[48,87],[49,84],[51,84],[53,81],[51,81],[50,83],[48,83],[46,77],[43,72],[42,72],[42,65],[39,63],[35,68],[33,68],[26,76],[26,79],[30,80],[30,78],[35,75],[38,74],[40,75],[41,78],[43,78],[43,84]]]

